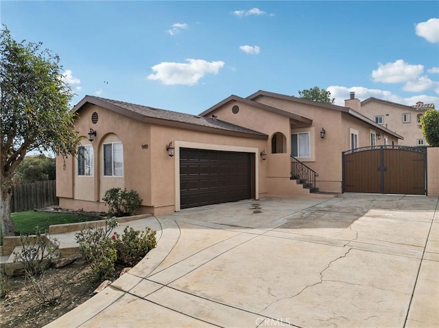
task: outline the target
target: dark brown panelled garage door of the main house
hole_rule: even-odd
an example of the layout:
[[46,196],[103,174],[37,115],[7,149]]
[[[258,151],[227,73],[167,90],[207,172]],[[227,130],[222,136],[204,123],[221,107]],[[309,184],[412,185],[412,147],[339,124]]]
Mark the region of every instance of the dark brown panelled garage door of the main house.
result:
[[180,148],[180,207],[254,198],[254,154]]

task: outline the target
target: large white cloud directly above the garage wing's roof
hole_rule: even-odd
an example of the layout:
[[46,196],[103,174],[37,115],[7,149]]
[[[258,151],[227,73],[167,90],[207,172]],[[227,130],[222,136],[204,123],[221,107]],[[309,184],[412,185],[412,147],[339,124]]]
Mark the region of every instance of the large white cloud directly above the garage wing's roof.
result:
[[206,74],[217,74],[224,62],[206,62],[205,60],[187,59],[187,63],[161,62],[152,66],[154,73],[147,79],[161,81],[166,86],[193,86]]

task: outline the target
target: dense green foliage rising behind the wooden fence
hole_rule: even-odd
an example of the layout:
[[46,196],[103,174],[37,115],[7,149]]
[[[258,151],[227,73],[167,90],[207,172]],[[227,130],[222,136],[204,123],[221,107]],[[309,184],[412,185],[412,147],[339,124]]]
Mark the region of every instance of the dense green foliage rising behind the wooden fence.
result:
[[19,184],[32,184],[36,181],[56,179],[56,160],[45,155],[27,155],[16,168],[13,181]]

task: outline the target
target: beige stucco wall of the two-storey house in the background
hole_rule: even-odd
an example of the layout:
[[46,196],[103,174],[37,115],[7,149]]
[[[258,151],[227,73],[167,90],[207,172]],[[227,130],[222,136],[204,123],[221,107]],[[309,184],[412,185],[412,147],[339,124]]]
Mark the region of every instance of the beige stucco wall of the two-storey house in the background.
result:
[[[394,131],[404,138],[404,140],[399,140],[398,143],[402,146],[416,147],[418,146],[417,140],[424,138],[417,115],[423,114],[425,111],[405,109],[392,104],[370,101],[361,104],[358,112],[372,121],[375,121],[375,116],[383,116],[383,127],[387,127],[390,131]],[[403,123],[403,114],[408,113],[410,113],[410,123]]]

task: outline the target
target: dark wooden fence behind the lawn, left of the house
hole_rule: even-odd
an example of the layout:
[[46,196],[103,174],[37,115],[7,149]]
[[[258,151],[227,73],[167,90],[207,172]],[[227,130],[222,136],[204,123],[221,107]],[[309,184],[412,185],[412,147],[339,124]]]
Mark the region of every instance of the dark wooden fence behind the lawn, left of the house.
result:
[[58,205],[56,180],[12,186],[11,212],[22,212]]

